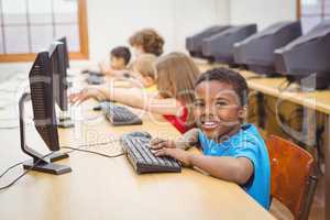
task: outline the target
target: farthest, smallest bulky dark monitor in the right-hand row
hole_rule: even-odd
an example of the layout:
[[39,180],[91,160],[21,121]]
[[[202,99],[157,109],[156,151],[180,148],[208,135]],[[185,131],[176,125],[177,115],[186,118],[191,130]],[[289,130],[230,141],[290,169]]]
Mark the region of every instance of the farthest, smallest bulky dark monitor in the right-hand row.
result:
[[213,34],[220,33],[220,32],[227,30],[228,28],[229,28],[228,25],[223,25],[223,26],[215,25],[215,26],[205,29],[201,32],[198,32],[197,34],[194,34],[193,36],[188,36],[186,38],[187,51],[194,57],[205,58],[205,56],[202,55],[202,50],[201,50],[202,40],[213,35]]

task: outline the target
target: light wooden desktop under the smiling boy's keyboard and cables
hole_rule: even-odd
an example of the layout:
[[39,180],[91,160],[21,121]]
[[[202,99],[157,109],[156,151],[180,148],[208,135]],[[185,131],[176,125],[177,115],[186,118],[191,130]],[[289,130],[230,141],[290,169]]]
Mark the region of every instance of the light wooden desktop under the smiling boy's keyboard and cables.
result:
[[[98,113],[89,112],[91,105],[84,103],[82,111],[90,120],[77,123],[75,129],[61,130],[61,145],[78,146],[118,140],[119,134],[144,130],[162,138],[179,133],[150,116],[143,125],[111,127]],[[0,131],[0,167],[25,160],[20,151],[19,131]],[[44,150],[33,128],[29,129],[30,146]],[[92,151],[116,154],[121,151],[118,142],[108,146],[89,147]],[[125,156],[106,158],[74,152],[68,160],[73,172],[62,176],[29,173],[8,190],[0,193],[0,219],[47,220],[118,220],[118,219],[274,219],[238,185],[222,182],[197,170],[184,168],[182,174],[138,175]],[[0,184],[22,173],[16,168]],[[4,180],[6,179],[6,180]]]

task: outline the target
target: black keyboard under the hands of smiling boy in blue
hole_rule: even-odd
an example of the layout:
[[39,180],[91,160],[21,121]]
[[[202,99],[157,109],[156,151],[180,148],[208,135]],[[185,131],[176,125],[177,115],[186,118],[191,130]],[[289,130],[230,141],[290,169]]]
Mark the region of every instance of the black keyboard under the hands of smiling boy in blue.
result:
[[182,172],[182,165],[175,158],[155,156],[150,150],[150,141],[147,138],[130,135],[121,139],[123,150],[138,174]]

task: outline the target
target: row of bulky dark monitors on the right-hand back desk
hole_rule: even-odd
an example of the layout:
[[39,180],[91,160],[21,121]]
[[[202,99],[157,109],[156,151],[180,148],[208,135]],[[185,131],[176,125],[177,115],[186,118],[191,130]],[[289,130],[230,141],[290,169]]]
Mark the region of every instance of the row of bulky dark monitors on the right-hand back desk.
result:
[[330,85],[330,20],[304,35],[299,21],[278,22],[260,32],[256,24],[211,26],[187,37],[186,48],[195,57],[284,75],[311,89]]

